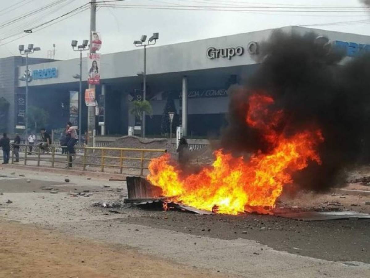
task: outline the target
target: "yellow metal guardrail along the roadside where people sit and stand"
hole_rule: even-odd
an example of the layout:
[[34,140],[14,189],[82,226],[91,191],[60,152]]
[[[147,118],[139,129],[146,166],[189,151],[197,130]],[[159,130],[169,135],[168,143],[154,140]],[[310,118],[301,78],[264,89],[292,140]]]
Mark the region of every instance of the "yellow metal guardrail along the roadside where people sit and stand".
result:
[[[31,157],[29,151],[29,147],[32,146],[33,149],[36,151],[31,152],[31,154],[37,155],[36,157]],[[101,172],[104,172],[104,168],[106,167],[114,167],[120,168],[120,173],[122,174],[123,168],[133,168],[139,169],[140,175],[143,175],[144,170],[148,169],[147,166],[144,165],[145,162],[150,161],[152,158],[145,158],[145,154],[147,153],[158,153],[164,154],[167,150],[150,150],[150,149],[135,149],[135,148],[108,148],[108,147],[78,147],[75,145],[75,150],[80,150],[80,152],[76,152],[76,154],[61,154],[59,153],[59,149],[64,149],[67,152],[67,147],[49,145],[47,150],[43,150],[39,147],[39,145],[26,145],[26,144],[19,144],[20,150],[19,153],[23,153],[24,157],[20,157],[20,160],[23,160],[24,165],[27,165],[27,161],[37,161],[37,166],[40,166],[40,162],[48,162],[51,163],[51,167],[55,167],[55,163],[66,163],[67,167],[70,168],[70,165],[82,165],[83,170],[86,170],[87,166],[98,166],[100,167]],[[22,148],[23,147],[23,148]],[[11,164],[14,164],[15,155],[14,155],[14,146],[11,147]],[[22,151],[21,151],[22,150]],[[58,150],[58,151],[57,151]],[[97,155],[96,151],[100,151],[100,154]],[[51,154],[50,157],[45,157],[44,152],[47,154]],[[118,152],[119,156],[114,156],[111,154],[112,152]],[[126,156],[125,153],[138,153],[139,157],[129,157]],[[80,162],[76,162],[75,158],[81,158]],[[95,158],[100,160],[100,163],[91,163],[88,161],[88,158]],[[117,161],[117,164],[106,164],[107,160]],[[132,166],[132,165],[124,165],[125,161],[139,161],[139,167]]]

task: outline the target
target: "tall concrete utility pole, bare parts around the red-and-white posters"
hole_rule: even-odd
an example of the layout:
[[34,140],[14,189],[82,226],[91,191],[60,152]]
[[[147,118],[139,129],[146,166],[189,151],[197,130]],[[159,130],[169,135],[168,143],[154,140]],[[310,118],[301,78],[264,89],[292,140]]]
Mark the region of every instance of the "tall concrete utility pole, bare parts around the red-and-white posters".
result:
[[[90,2],[90,43],[92,42],[92,32],[95,31],[96,24],[96,0],[91,0]],[[90,53],[95,53],[90,47]],[[95,85],[89,84],[89,89],[95,90]],[[96,94],[96,92],[95,92]],[[95,136],[95,106],[88,106],[87,114],[87,131],[88,131],[88,146],[94,146],[94,136]]]

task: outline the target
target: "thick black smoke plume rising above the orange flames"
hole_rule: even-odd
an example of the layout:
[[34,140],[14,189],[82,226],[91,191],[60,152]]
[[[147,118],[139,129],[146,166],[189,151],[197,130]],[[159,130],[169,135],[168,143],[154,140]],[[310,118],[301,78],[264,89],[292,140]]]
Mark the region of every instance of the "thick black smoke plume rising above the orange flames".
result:
[[269,153],[262,134],[245,123],[248,97],[264,92],[283,110],[276,126],[285,136],[317,127],[322,165],[310,163],[295,183],[317,191],[344,183],[344,173],[370,160],[370,55],[348,59],[323,37],[276,31],[262,43],[259,64],[246,85],[233,88],[222,147],[235,154]]

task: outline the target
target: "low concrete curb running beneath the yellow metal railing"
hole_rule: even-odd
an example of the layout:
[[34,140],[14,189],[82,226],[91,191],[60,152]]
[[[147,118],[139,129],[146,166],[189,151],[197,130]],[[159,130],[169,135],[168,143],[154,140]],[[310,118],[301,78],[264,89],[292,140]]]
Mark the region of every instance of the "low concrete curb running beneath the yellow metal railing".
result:
[[42,167],[42,166],[29,166],[29,165],[14,165],[14,164],[7,164],[1,165],[3,169],[21,169],[21,170],[28,170],[28,171],[39,171],[42,173],[55,173],[55,174],[66,174],[66,175],[76,175],[76,176],[87,176],[92,178],[106,178],[106,179],[117,179],[117,180],[126,180],[127,174],[115,174],[115,173],[99,173],[99,172],[90,172],[90,171],[82,171],[82,170],[65,170],[59,168],[51,168],[51,167]]

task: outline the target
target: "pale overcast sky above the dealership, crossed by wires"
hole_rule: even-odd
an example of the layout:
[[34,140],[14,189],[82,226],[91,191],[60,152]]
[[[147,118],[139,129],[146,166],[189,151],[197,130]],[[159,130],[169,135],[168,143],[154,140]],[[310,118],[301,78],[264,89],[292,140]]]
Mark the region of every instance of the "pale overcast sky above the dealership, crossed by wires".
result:
[[[56,45],[55,58],[77,58],[78,53],[73,52],[70,46],[71,40],[83,40],[89,38],[90,10],[85,10],[73,17],[67,18],[53,26],[43,30],[35,29],[36,32],[24,36],[24,29],[37,26],[55,17],[61,16],[85,3],[87,0],[59,0],[60,4],[38,13],[33,17],[23,17],[13,24],[1,26],[7,21],[13,20],[23,14],[36,10],[42,6],[53,3],[54,0],[0,0],[0,57],[18,55],[18,45],[33,43],[41,47],[39,53],[33,57],[47,57],[47,50]],[[99,0],[98,0],[99,1]],[[19,4],[18,4],[19,3]],[[195,6],[222,6],[236,7],[253,6],[261,4],[278,6],[290,5],[322,5],[322,6],[354,6],[363,7],[359,0],[126,0],[119,4],[141,5],[195,5]],[[319,10],[319,9],[318,9]],[[151,36],[159,32],[158,45],[172,44],[183,41],[198,40],[225,36],[230,34],[244,33],[248,31],[270,29],[288,25],[308,25],[333,23],[351,20],[369,20],[364,23],[313,26],[318,29],[342,31],[348,33],[370,35],[370,16],[363,12],[317,12],[317,13],[283,13],[283,12],[243,12],[243,11],[179,11],[179,10],[155,10],[155,9],[127,9],[102,7],[97,11],[97,31],[101,32],[103,45],[101,53],[112,53],[123,50],[131,50],[135,47],[132,42],[139,39],[141,34]],[[16,36],[13,34],[20,33]],[[14,41],[12,41],[14,40]]]

